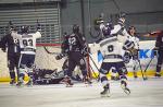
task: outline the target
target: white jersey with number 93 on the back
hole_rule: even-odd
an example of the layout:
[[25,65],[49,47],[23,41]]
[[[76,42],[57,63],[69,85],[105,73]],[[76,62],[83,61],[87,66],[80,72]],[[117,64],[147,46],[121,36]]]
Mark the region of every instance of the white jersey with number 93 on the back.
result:
[[20,41],[21,54],[35,55],[36,54],[36,39],[41,37],[40,32],[32,34],[17,34],[12,32],[14,38]]

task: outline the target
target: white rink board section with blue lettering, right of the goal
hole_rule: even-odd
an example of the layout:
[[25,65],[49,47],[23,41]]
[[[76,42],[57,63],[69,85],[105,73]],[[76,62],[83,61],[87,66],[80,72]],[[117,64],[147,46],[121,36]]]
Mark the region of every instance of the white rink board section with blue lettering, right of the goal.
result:
[[[147,66],[149,64],[149,67],[147,68],[147,71],[146,71],[146,74],[147,75],[150,75],[150,76],[153,76],[154,73],[155,73],[155,68],[156,68],[156,56],[153,55],[153,48],[154,48],[154,45],[155,45],[155,40],[146,40],[146,41],[140,41],[139,43],[139,48],[140,48],[140,51],[139,51],[139,59],[140,59],[140,64],[141,64],[141,68],[142,68],[142,72],[145,71],[145,69],[147,68]],[[90,47],[92,47],[92,44],[90,45]],[[93,52],[91,54],[91,58],[93,59],[93,62],[92,60],[90,60],[90,66],[92,67],[95,73],[98,75],[98,69],[100,68],[101,66],[101,62],[102,62],[102,58],[100,59],[98,54],[95,52],[95,49],[93,48]],[[96,66],[95,66],[96,63]],[[97,69],[98,67],[98,69]],[[133,76],[133,60],[130,59],[130,61],[126,64],[127,67],[127,70],[128,70],[128,76]],[[162,64],[162,71],[163,71],[163,64]],[[110,75],[110,74],[109,74]],[[141,73],[141,70],[139,68],[139,71],[138,71],[138,76],[141,76],[142,73]],[[93,74],[93,76],[96,76]]]

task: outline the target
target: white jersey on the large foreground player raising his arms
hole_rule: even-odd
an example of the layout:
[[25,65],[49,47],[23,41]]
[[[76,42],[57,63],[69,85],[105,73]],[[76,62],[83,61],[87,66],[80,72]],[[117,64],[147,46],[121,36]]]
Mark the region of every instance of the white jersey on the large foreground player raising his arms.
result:
[[[121,34],[118,32],[121,31]],[[123,61],[122,44],[124,44],[128,36],[130,36],[125,28],[122,29],[121,25],[115,25],[111,31],[111,36],[102,39],[99,43],[99,49],[103,56],[103,62],[120,62]]]

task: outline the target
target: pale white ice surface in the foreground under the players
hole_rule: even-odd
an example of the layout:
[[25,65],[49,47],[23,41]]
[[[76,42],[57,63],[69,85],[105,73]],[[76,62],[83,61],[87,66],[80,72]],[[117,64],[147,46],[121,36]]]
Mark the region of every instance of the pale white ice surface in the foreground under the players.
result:
[[118,81],[111,81],[111,96],[101,97],[102,86],[93,82],[88,86],[75,83],[34,85],[33,87],[0,84],[0,107],[163,107],[163,79],[128,80],[130,95],[126,95]]

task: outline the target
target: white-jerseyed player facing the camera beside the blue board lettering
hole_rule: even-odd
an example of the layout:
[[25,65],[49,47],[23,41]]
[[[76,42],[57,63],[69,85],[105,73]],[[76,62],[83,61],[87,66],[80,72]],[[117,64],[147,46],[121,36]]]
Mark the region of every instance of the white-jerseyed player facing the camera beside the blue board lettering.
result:
[[139,58],[138,58],[138,50],[139,50],[139,38],[136,35],[135,26],[129,26],[128,34],[130,35],[129,39],[134,43],[133,51],[129,51],[133,58],[134,64],[134,78],[137,79],[137,71],[139,68]]

